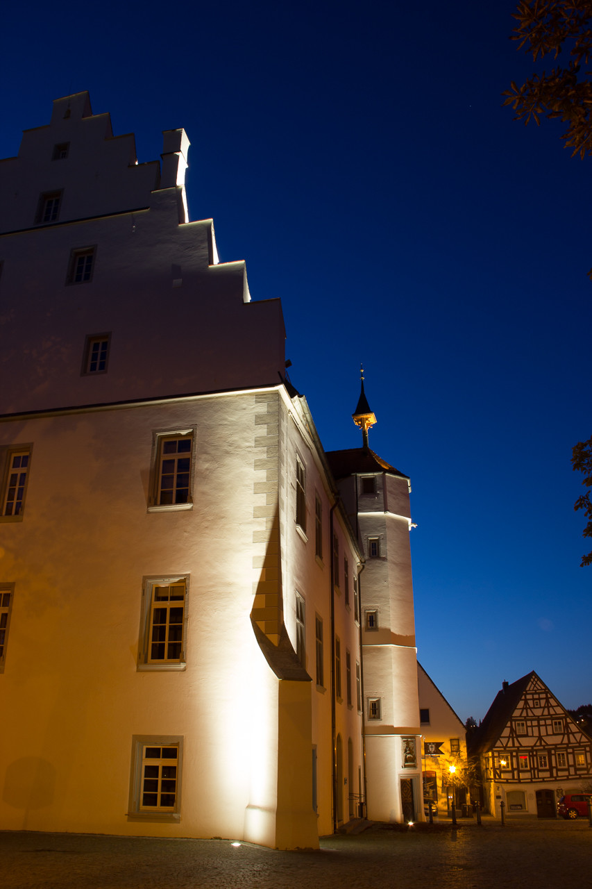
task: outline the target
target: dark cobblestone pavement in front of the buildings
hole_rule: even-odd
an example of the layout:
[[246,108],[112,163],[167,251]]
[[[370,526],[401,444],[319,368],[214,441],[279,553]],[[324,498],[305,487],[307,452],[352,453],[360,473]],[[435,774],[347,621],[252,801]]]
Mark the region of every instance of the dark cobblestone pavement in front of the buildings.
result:
[[0,832],[2,889],[592,889],[592,829],[578,821],[375,824],[319,852],[229,840]]

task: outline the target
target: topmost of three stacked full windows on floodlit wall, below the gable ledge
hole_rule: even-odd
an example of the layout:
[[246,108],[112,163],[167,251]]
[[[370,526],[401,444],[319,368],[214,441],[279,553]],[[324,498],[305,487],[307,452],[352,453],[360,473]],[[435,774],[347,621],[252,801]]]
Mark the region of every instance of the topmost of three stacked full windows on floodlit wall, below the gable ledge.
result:
[[155,433],[151,509],[191,509],[193,429]]

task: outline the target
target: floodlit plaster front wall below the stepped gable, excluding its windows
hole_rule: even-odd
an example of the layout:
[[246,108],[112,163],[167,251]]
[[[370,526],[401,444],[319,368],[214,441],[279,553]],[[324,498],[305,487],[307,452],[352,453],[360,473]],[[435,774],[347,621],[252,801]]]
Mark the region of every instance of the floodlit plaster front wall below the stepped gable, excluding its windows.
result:
[[[254,412],[221,396],[0,424],[34,442],[25,516],[1,525],[4,829],[243,835],[277,698],[250,621]],[[152,430],[193,423],[194,508],[148,514]],[[170,573],[190,574],[188,666],[138,672],[142,576]],[[180,825],[126,821],[132,734],[184,737]]]

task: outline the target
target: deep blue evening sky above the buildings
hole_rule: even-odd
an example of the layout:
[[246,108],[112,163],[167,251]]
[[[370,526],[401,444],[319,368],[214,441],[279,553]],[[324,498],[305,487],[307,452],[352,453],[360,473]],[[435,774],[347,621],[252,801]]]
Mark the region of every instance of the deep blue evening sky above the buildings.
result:
[[[515,3],[74,4],[3,13],[0,156],[89,90],[140,162],[192,140],[191,218],[281,297],[326,450],[412,477],[418,656],[463,721],[535,669],[592,700],[572,445],[592,434],[592,159],[500,93]],[[589,546],[589,544],[588,544]]]

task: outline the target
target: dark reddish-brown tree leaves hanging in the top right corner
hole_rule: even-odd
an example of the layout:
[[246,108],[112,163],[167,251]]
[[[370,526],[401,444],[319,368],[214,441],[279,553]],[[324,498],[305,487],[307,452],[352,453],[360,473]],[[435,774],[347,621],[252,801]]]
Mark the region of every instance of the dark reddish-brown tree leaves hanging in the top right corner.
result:
[[518,49],[543,59],[560,52],[569,56],[562,67],[533,74],[522,86],[511,84],[502,93],[505,105],[516,111],[524,124],[540,116],[556,117],[567,124],[561,137],[572,156],[592,154],[592,72],[582,68],[592,56],[592,0],[520,0],[514,18],[518,24],[511,39]]

